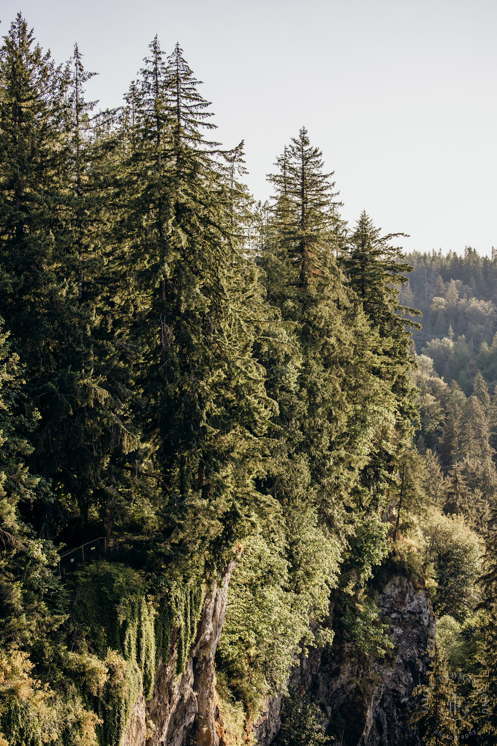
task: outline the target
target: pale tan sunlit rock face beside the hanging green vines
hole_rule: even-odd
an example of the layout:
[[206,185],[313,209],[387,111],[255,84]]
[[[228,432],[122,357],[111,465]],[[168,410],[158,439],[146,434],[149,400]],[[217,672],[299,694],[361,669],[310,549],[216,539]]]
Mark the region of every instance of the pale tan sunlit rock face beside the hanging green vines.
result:
[[[171,635],[171,655],[159,663],[153,697],[139,698],[124,731],[121,746],[219,746],[215,723],[213,682],[215,651],[226,614],[230,562],[221,583],[206,595],[197,625],[197,636],[189,652],[186,671],[176,675],[177,629]],[[193,736],[193,739],[191,739]]]

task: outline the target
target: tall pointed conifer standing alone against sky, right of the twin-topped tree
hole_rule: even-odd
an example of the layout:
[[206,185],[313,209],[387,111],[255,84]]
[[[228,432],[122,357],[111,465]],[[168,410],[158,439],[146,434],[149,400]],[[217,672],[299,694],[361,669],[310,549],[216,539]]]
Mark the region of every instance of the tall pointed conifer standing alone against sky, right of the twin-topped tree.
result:
[[[376,421],[375,396],[382,398],[385,392],[378,390],[382,385],[369,367],[376,340],[364,315],[350,305],[335,258],[343,224],[332,175],[323,173],[321,153],[310,145],[305,128],[285,148],[277,166],[279,172],[268,177],[276,192],[272,235],[260,261],[267,273],[268,298],[294,327],[303,356],[298,385],[306,413],[298,424],[289,414],[284,427],[292,422],[292,458],[298,454],[308,463],[309,476],[303,481],[309,481],[308,489],[329,524],[338,521],[338,527],[338,494],[346,496],[364,466],[352,454],[360,451],[357,444],[368,416]],[[366,401],[365,380],[371,387]],[[279,401],[277,392],[274,397]]]

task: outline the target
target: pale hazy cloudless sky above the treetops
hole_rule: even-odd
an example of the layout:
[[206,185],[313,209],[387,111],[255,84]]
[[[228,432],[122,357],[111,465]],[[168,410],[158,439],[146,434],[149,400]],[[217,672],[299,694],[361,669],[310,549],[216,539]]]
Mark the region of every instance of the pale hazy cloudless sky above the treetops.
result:
[[[7,3],[4,2],[5,9]],[[77,41],[102,107],[121,103],[148,43],[178,40],[217,139],[245,140],[247,184],[267,198],[300,127],[355,221],[365,209],[408,250],[497,246],[497,2],[458,0],[24,0],[37,40],[66,60]]]

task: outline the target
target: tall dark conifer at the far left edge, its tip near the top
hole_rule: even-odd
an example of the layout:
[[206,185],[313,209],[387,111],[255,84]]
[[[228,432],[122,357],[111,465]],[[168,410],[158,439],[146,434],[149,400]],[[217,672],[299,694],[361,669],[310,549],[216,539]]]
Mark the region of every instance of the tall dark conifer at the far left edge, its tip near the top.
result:
[[[0,313],[28,373],[28,413],[50,419],[65,406],[58,386],[46,389],[54,347],[67,333],[60,319],[63,287],[54,272],[66,262],[63,144],[66,77],[50,54],[34,46],[33,31],[18,13],[0,51]],[[52,304],[48,298],[53,299]],[[57,306],[57,317],[49,305]],[[69,333],[72,336],[72,333]],[[55,395],[54,395],[55,394]],[[43,422],[46,424],[47,420]]]

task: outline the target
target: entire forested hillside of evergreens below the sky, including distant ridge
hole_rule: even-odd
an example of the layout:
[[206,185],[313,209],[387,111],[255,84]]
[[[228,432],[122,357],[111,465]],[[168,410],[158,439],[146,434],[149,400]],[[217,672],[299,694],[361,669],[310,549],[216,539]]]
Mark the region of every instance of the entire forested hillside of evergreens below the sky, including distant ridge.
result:
[[0,743],[250,744],[276,704],[268,743],[386,743],[373,674],[334,710],[299,670],[394,668],[396,578],[437,617],[401,742],[494,744],[495,261],[347,225],[306,128],[257,202],[143,53],[98,110],[77,45],[0,51]]

